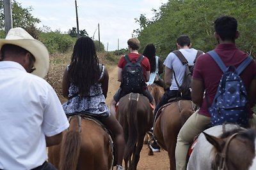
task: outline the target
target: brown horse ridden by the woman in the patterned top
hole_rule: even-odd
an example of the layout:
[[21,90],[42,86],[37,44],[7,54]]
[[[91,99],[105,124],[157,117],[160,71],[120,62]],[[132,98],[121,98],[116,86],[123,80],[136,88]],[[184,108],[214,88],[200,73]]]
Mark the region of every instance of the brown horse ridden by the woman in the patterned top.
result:
[[49,162],[60,170],[112,169],[113,141],[104,126],[85,115],[69,121],[61,144],[49,147]]

